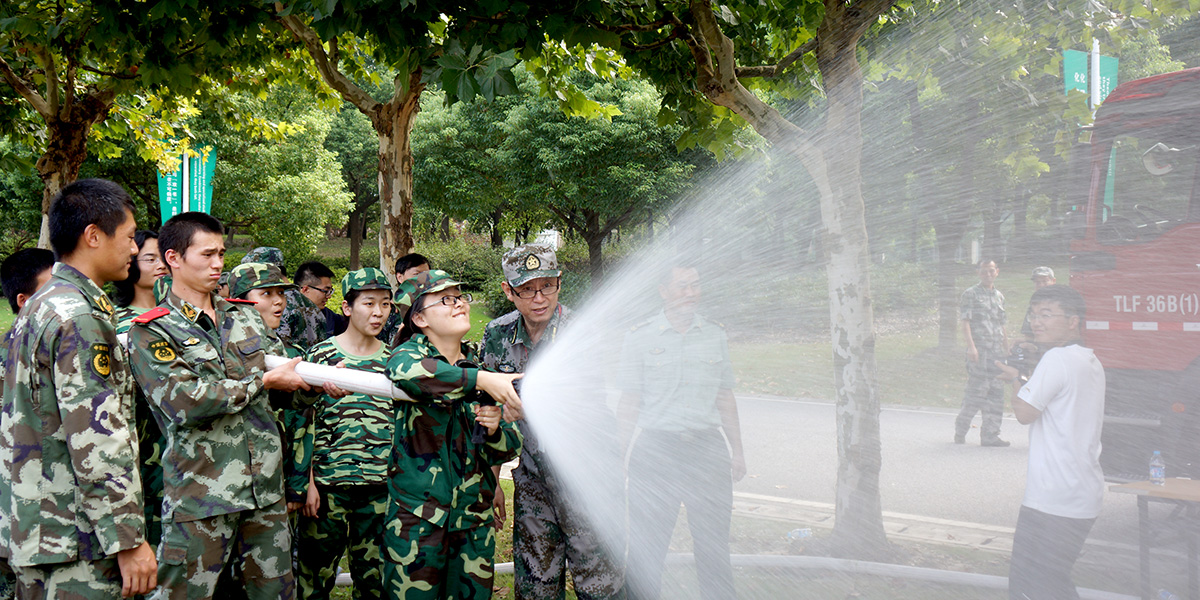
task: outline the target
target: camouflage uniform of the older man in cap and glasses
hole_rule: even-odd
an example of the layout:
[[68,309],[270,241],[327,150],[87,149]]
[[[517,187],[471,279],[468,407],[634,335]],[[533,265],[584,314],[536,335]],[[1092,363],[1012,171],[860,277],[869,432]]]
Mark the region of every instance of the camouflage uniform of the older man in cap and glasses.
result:
[[[524,372],[530,353],[552,343],[569,316],[570,311],[558,305],[536,347],[529,340],[524,319],[518,311],[492,320],[484,331],[481,365],[488,371],[500,373]],[[608,413],[602,397],[596,404],[594,408],[599,408],[599,413]],[[611,414],[601,414],[599,418],[602,419],[599,422],[612,421]],[[605,430],[595,420],[588,422],[596,424],[599,430]],[[606,431],[614,432],[614,425],[613,422]],[[565,598],[568,563],[575,593],[580,599],[617,595],[624,583],[620,568],[605,552],[587,518],[565,502],[550,473],[548,462],[541,456],[538,438],[529,422],[521,420],[517,421],[517,426],[523,444],[521,463],[512,472],[515,491],[512,562],[516,572],[514,581],[516,598]],[[616,461],[616,439],[612,439],[612,450]],[[617,487],[613,486],[614,490]],[[614,502],[622,502],[619,494],[616,496]]]

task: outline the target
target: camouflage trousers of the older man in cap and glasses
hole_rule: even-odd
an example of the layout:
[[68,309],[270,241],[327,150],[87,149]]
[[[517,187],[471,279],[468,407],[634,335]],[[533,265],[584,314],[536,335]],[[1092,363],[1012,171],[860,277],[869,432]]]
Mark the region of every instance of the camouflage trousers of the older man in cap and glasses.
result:
[[523,468],[512,474],[512,482],[516,598],[566,598],[568,565],[580,600],[619,598],[625,581],[622,569],[583,516],[560,502],[542,478]]

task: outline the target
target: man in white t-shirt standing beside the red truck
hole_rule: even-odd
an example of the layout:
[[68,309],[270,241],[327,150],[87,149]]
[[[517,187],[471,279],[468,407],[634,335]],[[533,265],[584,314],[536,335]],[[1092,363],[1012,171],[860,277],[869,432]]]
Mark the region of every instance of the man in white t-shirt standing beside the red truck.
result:
[[1033,341],[1045,352],[1037,368],[1024,382],[997,361],[1001,377],[1014,380],[1016,420],[1030,425],[1008,598],[1078,599],[1070,571],[1104,499],[1104,367],[1080,346],[1085,306],[1079,292],[1049,286],[1033,293],[1030,306]]

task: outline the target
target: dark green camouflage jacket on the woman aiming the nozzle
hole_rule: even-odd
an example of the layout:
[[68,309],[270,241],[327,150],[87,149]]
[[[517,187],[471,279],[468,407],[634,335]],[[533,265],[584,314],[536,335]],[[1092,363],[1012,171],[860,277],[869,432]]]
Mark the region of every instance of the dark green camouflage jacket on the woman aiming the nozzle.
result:
[[[474,359],[467,344],[462,352]],[[475,402],[469,398],[478,376],[478,368],[446,362],[421,334],[392,349],[388,360],[388,377],[413,398],[397,400],[388,470],[391,499],[451,530],[491,522],[492,467],[521,451],[521,434],[505,421],[484,444],[472,443]]]

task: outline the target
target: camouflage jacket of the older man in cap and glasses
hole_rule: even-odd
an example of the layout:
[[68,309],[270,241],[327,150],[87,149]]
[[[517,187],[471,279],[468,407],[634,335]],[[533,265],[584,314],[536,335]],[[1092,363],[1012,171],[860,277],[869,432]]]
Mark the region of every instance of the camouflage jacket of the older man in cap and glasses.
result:
[[[484,341],[479,352],[480,366],[498,373],[523,373],[529,365],[529,356],[533,352],[552,343],[558,337],[558,330],[566,325],[570,317],[570,308],[558,305],[558,310],[550,317],[550,323],[546,324],[546,330],[536,346],[529,340],[529,332],[526,330],[524,319],[521,318],[520,311],[512,311],[493,319],[484,330]],[[523,437],[518,468],[530,474],[542,472],[541,452],[533,428],[523,419],[517,421],[517,428],[521,430]]]

